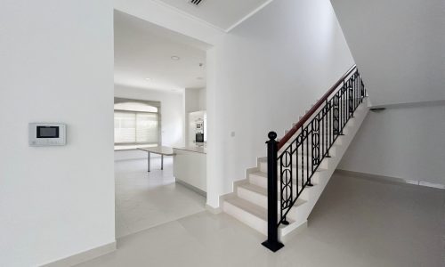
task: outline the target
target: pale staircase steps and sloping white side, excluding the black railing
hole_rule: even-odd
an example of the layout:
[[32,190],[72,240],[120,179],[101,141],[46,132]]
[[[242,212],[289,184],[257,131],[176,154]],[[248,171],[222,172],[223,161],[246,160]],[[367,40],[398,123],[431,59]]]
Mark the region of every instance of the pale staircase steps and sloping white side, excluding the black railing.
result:
[[[353,113],[353,117],[347,121],[344,125],[343,133],[338,135],[336,141],[333,143],[332,147],[329,149],[329,157],[323,158],[320,162],[315,173],[312,175],[313,186],[306,186],[303,191],[296,199],[294,205],[290,208],[287,214],[287,222],[279,223],[279,240],[283,240],[289,233],[295,231],[300,226],[307,223],[307,219],[312,212],[313,207],[320,198],[321,193],[326,188],[329,179],[334,174],[336,166],[338,166],[341,158],[344,156],[344,152],[347,150],[349,144],[352,142],[354,135],[360,128],[363,119],[368,114],[368,103],[367,98],[357,106]],[[291,140],[296,137],[293,136]],[[289,140],[289,144],[291,141]],[[285,150],[287,144],[283,149]],[[302,165],[292,166],[294,173],[301,174],[303,170],[302,166],[306,165],[307,161],[312,160],[311,153],[305,154],[304,157],[299,157],[300,155],[293,155],[294,160],[303,159]],[[295,162],[295,161],[294,161]],[[257,158],[257,164],[255,167],[247,169],[246,177],[244,180],[234,182],[233,192],[223,198],[223,211],[231,216],[235,217],[242,223],[246,223],[251,228],[263,233],[265,236],[268,235],[268,160],[266,157]],[[295,186],[293,186],[294,196],[296,196],[296,188],[300,187],[301,184],[293,181]],[[280,187],[278,185],[278,199],[277,206],[280,206]],[[278,208],[278,213],[280,208]],[[278,221],[280,220],[280,215],[278,215]]]

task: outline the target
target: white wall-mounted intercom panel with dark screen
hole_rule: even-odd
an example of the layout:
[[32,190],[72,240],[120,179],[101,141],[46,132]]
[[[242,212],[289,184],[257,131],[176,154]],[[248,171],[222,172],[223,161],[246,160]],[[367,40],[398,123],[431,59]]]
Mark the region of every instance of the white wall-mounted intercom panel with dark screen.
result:
[[64,146],[67,125],[59,123],[30,123],[28,142],[31,147]]

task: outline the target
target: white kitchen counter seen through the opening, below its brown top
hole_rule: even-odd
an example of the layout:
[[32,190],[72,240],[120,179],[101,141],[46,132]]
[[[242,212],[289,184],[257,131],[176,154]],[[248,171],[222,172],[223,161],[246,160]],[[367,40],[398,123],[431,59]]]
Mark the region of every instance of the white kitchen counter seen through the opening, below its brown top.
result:
[[176,182],[206,196],[206,148],[174,148],[173,174]]

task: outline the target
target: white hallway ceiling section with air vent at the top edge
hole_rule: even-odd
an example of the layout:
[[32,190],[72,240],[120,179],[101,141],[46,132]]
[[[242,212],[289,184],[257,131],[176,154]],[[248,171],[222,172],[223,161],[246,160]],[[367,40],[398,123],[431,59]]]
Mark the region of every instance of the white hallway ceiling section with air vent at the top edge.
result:
[[198,6],[189,0],[156,0],[180,12],[204,20],[216,28],[228,31],[271,0],[202,0]]

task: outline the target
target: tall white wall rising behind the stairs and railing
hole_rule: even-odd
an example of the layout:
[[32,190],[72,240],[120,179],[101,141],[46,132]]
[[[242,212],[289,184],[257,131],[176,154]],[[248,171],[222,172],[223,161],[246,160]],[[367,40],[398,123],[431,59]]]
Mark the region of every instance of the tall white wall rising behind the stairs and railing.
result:
[[[328,0],[273,1],[207,52],[207,204],[353,64]],[[234,132],[235,136],[231,136]]]

